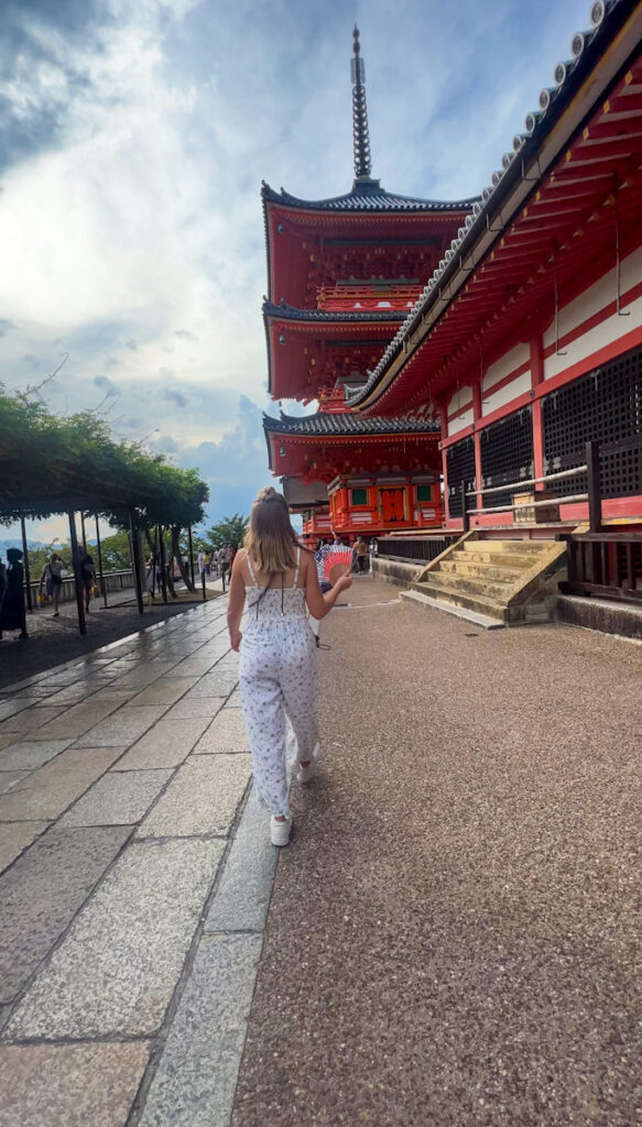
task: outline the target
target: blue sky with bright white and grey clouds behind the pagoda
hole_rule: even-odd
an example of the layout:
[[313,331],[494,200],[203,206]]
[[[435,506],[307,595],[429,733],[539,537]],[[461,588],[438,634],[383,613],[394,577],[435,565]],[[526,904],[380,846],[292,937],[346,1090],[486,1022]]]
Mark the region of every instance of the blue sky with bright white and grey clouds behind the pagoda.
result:
[[[209,481],[267,483],[260,186],[352,181],[361,29],[372,175],[489,183],[588,0],[2,0],[0,380],[98,407]],[[292,405],[287,405],[292,409]],[[46,539],[53,525],[30,530]]]

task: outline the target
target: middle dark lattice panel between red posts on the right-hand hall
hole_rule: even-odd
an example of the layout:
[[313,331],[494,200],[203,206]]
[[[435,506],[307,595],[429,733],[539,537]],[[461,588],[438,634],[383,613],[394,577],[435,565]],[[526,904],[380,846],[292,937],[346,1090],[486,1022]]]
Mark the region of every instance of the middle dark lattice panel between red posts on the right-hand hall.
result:
[[[535,472],[533,456],[533,418],[530,407],[492,423],[480,433],[482,449],[482,478],[485,489],[528,481]],[[513,494],[491,494],[484,507],[511,505]]]

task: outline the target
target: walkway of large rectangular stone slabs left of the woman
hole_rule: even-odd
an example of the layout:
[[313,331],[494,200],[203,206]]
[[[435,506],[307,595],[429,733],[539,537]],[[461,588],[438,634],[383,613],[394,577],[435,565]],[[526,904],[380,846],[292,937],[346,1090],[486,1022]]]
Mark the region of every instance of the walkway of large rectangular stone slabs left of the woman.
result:
[[1,1127],[229,1122],[276,851],[225,603],[0,694]]

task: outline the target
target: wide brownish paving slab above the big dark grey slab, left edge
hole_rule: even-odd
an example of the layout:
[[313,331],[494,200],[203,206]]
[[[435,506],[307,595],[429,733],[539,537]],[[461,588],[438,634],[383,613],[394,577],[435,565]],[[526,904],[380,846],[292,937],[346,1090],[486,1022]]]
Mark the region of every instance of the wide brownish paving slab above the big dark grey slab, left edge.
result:
[[18,790],[0,795],[0,822],[58,818],[122,752],[122,747],[68,747],[24,779]]

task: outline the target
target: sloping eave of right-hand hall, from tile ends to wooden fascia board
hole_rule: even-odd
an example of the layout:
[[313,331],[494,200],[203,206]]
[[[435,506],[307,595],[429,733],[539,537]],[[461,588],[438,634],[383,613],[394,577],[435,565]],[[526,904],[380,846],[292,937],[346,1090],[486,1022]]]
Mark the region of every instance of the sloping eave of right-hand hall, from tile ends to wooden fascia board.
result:
[[564,150],[575,143],[573,139],[577,140],[639,50],[642,5],[639,0],[613,0],[601,27],[587,33],[587,38],[589,42],[582,55],[569,64],[568,77],[555,91],[547,112],[511,156],[499,184],[486,203],[477,208],[464,238],[451,245],[449,260],[406,318],[390,354],[382,357],[364,388],[348,400],[350,409],[376,408],[468,278],[478,272],[525,204],[551,176]]

